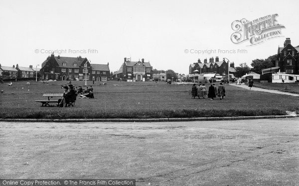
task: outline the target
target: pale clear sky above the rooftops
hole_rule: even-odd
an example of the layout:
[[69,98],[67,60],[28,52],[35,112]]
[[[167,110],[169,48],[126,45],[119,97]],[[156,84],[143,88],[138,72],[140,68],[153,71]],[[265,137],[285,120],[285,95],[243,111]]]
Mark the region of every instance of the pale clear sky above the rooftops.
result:
[[[298,46],[298,7],[297,0],[0,0],[0,64],[41,66],[54,51],[109,62],[112,72],[125,57],[182,74],[198,58],[225,57],[236,67],[277,54],[287,37]],[[232,42],[235,20],[272,14],[285,26],[280,37]]]

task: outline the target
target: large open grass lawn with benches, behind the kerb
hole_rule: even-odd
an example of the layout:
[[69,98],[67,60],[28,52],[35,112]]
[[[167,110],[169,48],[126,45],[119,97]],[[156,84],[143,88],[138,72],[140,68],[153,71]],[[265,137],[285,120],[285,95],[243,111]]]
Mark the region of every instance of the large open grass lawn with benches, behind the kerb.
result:
[[[226,97],[198,99],[189,94],[192,84],[166,85],[164,82],[107,82],[94,88],[94,99],[77,98],[74,107],[41,107],[43,93],[62,93],[66,81],[15,82],[0,84],[0,118],[167,118],[284,115],[299,111],[299,97],[261,93],[225,85]],[[103,82],[102,82],[103,83]],[[84,82],[73,82],[83,86]],[[210,84],[206,84],[208,88]]]

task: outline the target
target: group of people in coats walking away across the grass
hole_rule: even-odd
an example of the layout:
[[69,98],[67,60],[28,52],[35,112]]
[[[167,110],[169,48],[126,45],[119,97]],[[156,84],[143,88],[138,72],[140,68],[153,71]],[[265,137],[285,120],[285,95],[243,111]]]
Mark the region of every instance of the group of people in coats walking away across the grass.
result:
[[225,97],[225,88],[223,86],[222,83],[220,83],[220,85],[218,86],[218,89],[216,87],[215,84],[211,84],[211,86],[209,87],[208,93],[206,90],[205,85],[198,85],[196,87],[196,84],[193,84],[192,89],[191,89],[191,94],[192,97],[198,97],[200,99],[200,97],[205,98],[206,95],[208,95],[208,98],[210,98],[211,100],[213,100],[216,95],[218,97],[220,97],[220,100],[223,99]]

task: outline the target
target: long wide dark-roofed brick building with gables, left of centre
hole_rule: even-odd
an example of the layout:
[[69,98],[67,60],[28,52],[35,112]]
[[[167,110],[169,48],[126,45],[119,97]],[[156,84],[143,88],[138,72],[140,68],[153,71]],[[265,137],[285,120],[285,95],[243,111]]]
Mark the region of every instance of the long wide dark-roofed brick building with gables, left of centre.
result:
[[107,81],[110,79],[109,63],[91,64],[87,58],[81,56],[62,57],[54,54],[42,63],[40,74],[44,80]]

